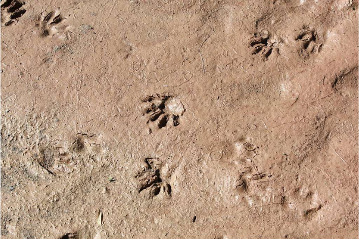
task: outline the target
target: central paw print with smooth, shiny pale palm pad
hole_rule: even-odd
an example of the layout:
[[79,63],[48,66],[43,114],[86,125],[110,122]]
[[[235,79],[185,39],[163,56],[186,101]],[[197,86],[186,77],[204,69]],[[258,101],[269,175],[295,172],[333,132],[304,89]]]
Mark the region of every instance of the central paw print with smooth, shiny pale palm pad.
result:
[[[142,115],[148,117],[146,124],[155,125],[158,129],[167,126],[168,122],[173,126],[180,125],[180,116],[185,112],[182,102],[168,95],[146,96],[140,107]],[[151,128],[149,132],[152,132]]]

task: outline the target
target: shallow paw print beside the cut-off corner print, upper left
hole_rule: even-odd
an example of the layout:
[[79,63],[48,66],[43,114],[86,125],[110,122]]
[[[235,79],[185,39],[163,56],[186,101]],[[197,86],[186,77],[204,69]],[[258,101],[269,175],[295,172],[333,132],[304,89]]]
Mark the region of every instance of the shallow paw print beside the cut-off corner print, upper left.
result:
[[68,25],[65,25],[66,18],[61,15],[61,12],[56,10],[48,13],[47,15],[39,16],[38,23],[38,35],[40,37],[61,37],[62,34],[67,37],[67,28]]

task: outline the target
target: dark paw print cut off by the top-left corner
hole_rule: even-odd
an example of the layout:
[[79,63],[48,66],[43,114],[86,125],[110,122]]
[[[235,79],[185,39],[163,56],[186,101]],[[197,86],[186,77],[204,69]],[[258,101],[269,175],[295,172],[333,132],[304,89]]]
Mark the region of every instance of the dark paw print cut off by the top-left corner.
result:
[[13,24],[26,10],[22,8],[25,3],[17,0],[5,0],[1,5],[1,21],[4,26]]

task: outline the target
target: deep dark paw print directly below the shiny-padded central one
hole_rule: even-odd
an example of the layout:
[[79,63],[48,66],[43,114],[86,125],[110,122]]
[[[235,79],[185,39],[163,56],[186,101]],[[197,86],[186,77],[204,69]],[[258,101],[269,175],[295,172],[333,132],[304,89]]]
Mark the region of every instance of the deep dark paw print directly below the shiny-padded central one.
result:
[[138,181],[137,191],[146,191],[149,198],[157,195],[171,196],[171,186],[163,182],[161,175],[162,161],[157,158],[145,158],[141,169],[135,174]]

